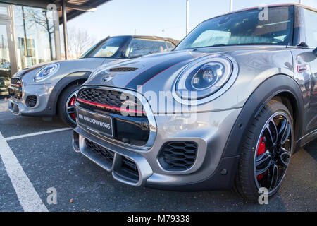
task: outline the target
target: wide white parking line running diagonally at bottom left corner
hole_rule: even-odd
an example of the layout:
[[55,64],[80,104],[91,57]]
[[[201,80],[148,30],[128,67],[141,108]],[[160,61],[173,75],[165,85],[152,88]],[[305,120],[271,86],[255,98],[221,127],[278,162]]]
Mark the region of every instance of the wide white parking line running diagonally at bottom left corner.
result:
[[25,212],[48,212],[44,203],[35,191],[34,186],[30,182],[18,159],[13,154],[8,143],[0,132],[0,157],[6,167],[6,172],[11,179],[15,193]]

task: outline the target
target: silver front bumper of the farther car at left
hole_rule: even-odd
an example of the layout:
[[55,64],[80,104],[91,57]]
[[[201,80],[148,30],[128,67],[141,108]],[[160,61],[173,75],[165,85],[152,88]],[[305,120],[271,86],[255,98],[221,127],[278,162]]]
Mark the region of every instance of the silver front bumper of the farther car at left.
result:
[[[11,97],[8,100],[8,109],[16,115],[23,116],[52,116],[54,115],[53,107],[50,107],[49,95],[51,93],[51,85],[23,85],[22,97],[17,99]],[[35,105],[30,107],[27,101],[32,98]]]

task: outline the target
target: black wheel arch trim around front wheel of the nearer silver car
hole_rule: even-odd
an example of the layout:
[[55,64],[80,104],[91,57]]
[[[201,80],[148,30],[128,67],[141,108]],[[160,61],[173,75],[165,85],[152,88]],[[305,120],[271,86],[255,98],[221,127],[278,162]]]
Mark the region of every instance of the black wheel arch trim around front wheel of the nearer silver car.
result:
[[[282,81],[282,82],[281,82]],[[237,117],[223,151],[223,157],[238,156],[242,148],[240,143],[247,133],[247,128],[266,103],[278,99],[290,109],[294,121],[295,150],[299,148],[299,138],[303,135],[304,102],[302,91],[294,79],[285,74],[277,74],[267,78],[249,96]]]

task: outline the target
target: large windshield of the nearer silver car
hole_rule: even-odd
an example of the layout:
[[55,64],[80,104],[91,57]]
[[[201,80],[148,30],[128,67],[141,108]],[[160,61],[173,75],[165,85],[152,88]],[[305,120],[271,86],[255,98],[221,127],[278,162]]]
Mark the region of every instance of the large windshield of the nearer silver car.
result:
[[292,6],[230,13],[198,25],[175,50],[245,44],[291,45],[293,18]]

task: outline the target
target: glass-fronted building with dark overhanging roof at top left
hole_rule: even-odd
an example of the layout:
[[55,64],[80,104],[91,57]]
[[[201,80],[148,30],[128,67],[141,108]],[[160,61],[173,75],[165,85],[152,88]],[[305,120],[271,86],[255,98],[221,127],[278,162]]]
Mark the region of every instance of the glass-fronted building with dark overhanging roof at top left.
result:
[[17,71],[61,59],[61,41],[67,59],[67,20],[106,1],[0,0],[0,98]]

